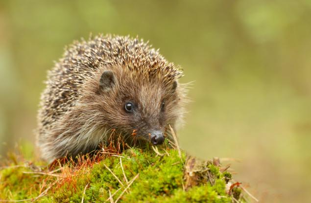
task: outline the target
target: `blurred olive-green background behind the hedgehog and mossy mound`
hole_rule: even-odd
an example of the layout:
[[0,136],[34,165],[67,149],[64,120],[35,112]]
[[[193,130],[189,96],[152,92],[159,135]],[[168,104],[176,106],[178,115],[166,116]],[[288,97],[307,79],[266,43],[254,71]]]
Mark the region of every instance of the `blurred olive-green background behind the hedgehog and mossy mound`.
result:
[[34,145],[46,72],[90,32],[138,35],[184,68],[184,149],[239,159],[224,164],[261,202],[310,201],[311,0],[0,0],[2,157]]

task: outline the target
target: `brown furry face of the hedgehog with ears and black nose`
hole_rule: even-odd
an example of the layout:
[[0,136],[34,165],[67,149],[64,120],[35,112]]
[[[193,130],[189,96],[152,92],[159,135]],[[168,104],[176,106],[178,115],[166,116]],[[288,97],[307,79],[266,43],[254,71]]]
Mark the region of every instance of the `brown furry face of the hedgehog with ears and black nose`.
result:
[[[171,81],[164,87],[159,79],[138,81],[133,77],[110,70],[102,73],[99,88],[109,100],[105,105],[113,110],[105,113],[106,122],[130,143],[145,140],[154,145],[162,144],[168,125],[174,127],[181,114],[177,82]],[[107,106],[105,109],[108,110]]]

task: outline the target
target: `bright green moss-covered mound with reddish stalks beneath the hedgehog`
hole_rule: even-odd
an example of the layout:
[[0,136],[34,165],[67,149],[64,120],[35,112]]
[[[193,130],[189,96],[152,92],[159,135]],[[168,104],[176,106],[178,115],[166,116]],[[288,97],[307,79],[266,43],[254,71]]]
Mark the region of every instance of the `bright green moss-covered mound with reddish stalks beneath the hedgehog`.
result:
[[185,183],[186,155],[174,149],[157,153],[139,149],[122,154],[107,152],[100,159],[81,158],[78,163],[53,169],[31,163],[6,167],[0,171],[0,200],[57,203],[241,201],[237,187],[228,189],[231,174],[221,173],[219,166],[212,162],[206,162],[206,170],[199,173],[207,172],[208,176],[195,177],[199,181],[193,186]]

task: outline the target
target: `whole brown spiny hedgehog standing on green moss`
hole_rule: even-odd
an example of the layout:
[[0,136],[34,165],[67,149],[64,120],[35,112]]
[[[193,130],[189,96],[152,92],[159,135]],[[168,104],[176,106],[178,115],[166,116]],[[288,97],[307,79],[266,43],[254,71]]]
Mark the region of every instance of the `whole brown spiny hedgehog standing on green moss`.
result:
[[76,157],[108,144],[161,145],[183,121],[183,70],[129,36],[74,41],[48,71],[38,111],[43,159]]

